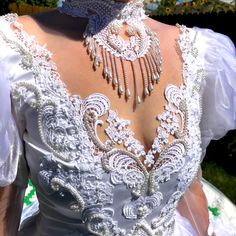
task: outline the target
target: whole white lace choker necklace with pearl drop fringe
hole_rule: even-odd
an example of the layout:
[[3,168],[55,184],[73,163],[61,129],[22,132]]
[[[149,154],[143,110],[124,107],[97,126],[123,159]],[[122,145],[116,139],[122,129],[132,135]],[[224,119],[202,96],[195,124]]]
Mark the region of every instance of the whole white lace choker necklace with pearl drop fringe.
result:
[[[143,79],[144,97],[158,83],[162,57],[157,34],[144,23],[143,0],[128,3],[113,0],[65,0],[61,13],[88,18],[84,43],[96,70],[103,65],[103,77],[117,89],[119,96],[131,97],[125,61],[130,62],[134,80],[135,102],[141,103],[138,73]],[[122,27],[125,36],[121,37]],[[121,68],[121,70],[118,70]],[[122,71],[119,73],[118,71]]]

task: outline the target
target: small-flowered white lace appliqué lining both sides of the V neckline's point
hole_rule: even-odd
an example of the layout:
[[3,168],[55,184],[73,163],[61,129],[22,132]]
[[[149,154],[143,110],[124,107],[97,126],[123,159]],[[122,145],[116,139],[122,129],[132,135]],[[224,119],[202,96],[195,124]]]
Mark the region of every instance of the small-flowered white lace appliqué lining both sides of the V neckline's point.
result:
[[[117,143],[123,144],[127,151],[132,152],[137,157],[145,156],[144,164],[151,167],[155,161],[155,154],[160,154],[164,147],[169,143],[169,136],[180,137],[183,128],[180,123],[184,124],[184,111],[181,111],[180,104],[183,102],[181,89],[170,85],[165,91],[165,97],[168,104],[165,106],[166,111],[159,115],[157,119],[160,121],[160,127],[156,130],[156,137],[153,141],[152,148],[147,153],[144,146],[134,138],[134,133],[130,131],[130,121],[120,119],[115,111],[109,112],[106,133],[109,138]],[[181,122],[180,122],[181,121]]]

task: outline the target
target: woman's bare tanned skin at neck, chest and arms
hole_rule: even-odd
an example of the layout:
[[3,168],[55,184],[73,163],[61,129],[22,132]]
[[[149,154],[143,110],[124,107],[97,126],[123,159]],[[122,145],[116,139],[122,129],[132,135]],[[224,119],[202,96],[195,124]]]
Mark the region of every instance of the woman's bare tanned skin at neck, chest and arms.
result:
[[[129,0],[117,1],[129,2]],[[144,21],[147,26],[158,34],[161,54],[164,59],[163,73],[159,84],[154,86],[153,94],[147,97],[140,105],[134,107],[133,100],[126,101],[124,97],[119,97],[112,89],[112,86],[105,82],[102,78],[102,68],[97,71],[92,69],[92,63],[83,46],[83,32],[87,25],[86,19],[72,18],[57,11],[51,11],[33,16],[19,17],[19,22],[23,24],[24,30],[28,34],[36,36],[39,44],[47,44],[47,48],[53,53],[52,60],[56,63],[61,80],[65,83],[69,93],[79,94],[82,98],[95,92],[106,95],[111,101],[111,109],[116,110],[119,117],[131,121],[130,128],[134,131],[135,137],[144,145],[146,151],[150,149],[158,125],[156,115],[164,112],[164,105],[166,104],[163,96],[164,89],[168,84],[177,86],[182,84],[182,61],[176,50],[176,40],[179,37],[179,29],[177,27],[157,22],[151,18],[147,18]],[[127,63],[125,63],[125,66],[128,68]],[[129,84],[132,85],[132,71],[128,70],[127,74],[130,80]],[[141,75],[139,75],[138,87],[143,87]],[[130,89],[133,94],[133,86],[130,86]],[[103,141],[107,139],[103,127],[98,129],[98,135]],[[171,142],[171,140],[173,140],[173,137],[169,141]],[[9,190],[9,188],[12,188],[12,190]],[[0,199],[6,196],[6,192],[8,196],[13,196],[11,191],[18,191],[15,187],[9,188],[0,189]],[[199,196],[197,207],[192,209],[192,211],[199,214],[199,209],[206,209],[200,212],[202,227],[199,232],[201,236],[206,235],[208,227],[206,198],[198,182],[193,183],[191,188]],[[0,202],[1,209],[2,200]],[[184,209],[183,200],[180,202],[180,206],[181,204],[181,209]],[[196,204],[193,206],[196,206]],[[7,209],[0,211],[0,214],[5,216],[6,212]],[[186,212],[182,211],[181,213],[192,221]],[[6,225],[0,225],[0,232],[1,230],[4,232]]]

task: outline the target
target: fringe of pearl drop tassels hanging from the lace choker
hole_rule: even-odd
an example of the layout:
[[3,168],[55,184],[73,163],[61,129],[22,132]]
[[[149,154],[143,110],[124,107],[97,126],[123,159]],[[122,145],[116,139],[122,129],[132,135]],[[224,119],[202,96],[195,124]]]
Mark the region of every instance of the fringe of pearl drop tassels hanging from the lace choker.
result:
[[[151,94],[153,90],[153,84],[158,83],[160,80],[161,74],[161,65],[162,59],[159,50],[159,41],[155,37],[155,33],[150,34],[151,45],[148,52],[143,56],[138,58],[139,62],[139,71],[143,78],[143,95],[147,97]],[[96,40],[91,36],[86,36],[85,46],[87,47],[87,52],[90,55],[91,60],[93,61],[93,68],[96,70],[100,64],[103,64],[103,77],[112,82],[112,85],[115,89],[118,90],[119,96],[124,94],[124,90],[121,84],[121,77],[118,72],[117,58],[111,52],[107,51],[106,48],[99,47],[96,43]],[[128,100],[131,97],[131,92],[127,80],[127,72],[124,66],[124,60],[120,57],[121,69],[123,73],[124,85],[125,85],[125,98]],[[138,91],[138,76],[137,69],[135,68],[134,61],[131,60],[131,69],[133,72],[134,79],[134,93],[135,93],[135,102],[137,104],[141,103],[141,97]]]

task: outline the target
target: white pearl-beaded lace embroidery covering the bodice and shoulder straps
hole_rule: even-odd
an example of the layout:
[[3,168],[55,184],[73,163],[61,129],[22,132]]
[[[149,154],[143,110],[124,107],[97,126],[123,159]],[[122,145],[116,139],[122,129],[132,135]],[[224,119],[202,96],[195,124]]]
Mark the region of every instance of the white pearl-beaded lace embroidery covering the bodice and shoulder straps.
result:
[[[4,22],[16,24],[16,19],[8,15]],[[21,27],[17,27],[14,40],[0,38],[17,50],[21,58],[28,55],[31,59],[27,67],[22,65],[24,60],[19,66],[31,72],[33,80],[13,83],[12,95],[19,104],[27,103],[37,110],[41,139],[51,150],[50,157],[42,157],[39,183],[47,188],[45,191],[58,193],[62,201],[64,194],[70,193],[74,201],[68,208],[79,212],[78,217],[95,235],[169,236],[173,233],[176,206],[193,181],[201,157],[199,88],[202,70],[194,66],[197,55],[193,31],[185,27],[180,30],[184,85],[179,88],[170,85],[166,89],[169,103],[166,112],[157,116],[158,134],[162,134],[155,138],[152,147],[152,154],[158,152],[160,156],[155,163],[151,161],[153,167],[149,172],[135,155],[137,145],[130,150],[114,148],[112,142],[125,142],[124,135],[132,138],[132,134],[127,129],[129,122],[119,119],[110,110],[109,100],[104,95],[93,94],[86,99],[69,96],[55,65],[49,60],[49,53],[32,41]],[[107,132],[111,140],[104,144],[99,140],[96,127],[101,123],[100,117],[107,113],[110,114]],[[183,127],[179,127],[179,119],[184,121]],[[174,135],[176,140],[169,144],[168,135]],[[122,191],[128,191],[130,196],[122,203],[122,216],[134,219],[129,232],[113,219],[114,191],[122,185],[125,186]],[[95,189],[98,191],[88,198]],[[167,194],[165,189],[171,191]],[[100,205],[94,205],[95,202]]]

